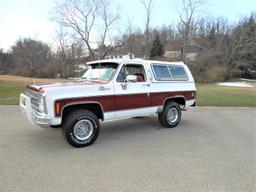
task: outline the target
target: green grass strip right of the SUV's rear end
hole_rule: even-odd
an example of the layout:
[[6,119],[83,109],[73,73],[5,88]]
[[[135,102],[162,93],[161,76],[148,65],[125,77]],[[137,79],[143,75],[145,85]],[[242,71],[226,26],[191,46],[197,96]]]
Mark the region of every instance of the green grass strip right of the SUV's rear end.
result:
[[197,84],[198,106],[256,107],[256,88]]

